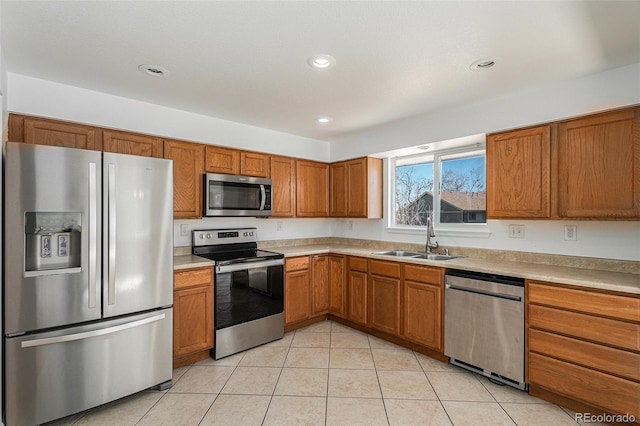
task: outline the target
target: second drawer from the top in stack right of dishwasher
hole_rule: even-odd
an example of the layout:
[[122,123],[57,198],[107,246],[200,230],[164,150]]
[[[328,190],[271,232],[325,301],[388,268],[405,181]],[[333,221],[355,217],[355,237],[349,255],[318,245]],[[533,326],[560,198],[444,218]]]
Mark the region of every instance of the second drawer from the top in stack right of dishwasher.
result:
[[640,325],[529,305],[529,326],[640,351]]

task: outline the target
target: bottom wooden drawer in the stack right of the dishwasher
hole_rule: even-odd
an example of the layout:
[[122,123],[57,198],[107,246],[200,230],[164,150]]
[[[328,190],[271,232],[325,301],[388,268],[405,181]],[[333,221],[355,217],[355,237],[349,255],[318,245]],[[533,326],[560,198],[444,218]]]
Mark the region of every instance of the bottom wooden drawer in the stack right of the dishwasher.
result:
[[640,383],[529,354],[529,381],[571,399],[640,417]]

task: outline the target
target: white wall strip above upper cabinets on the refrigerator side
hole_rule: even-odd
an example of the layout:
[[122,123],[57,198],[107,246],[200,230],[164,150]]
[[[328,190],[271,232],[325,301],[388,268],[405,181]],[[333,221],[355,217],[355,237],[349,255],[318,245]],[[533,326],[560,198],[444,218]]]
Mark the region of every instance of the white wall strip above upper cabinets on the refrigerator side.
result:
[[9,73],[9,111],[212,145],[329,160],[329,143]]

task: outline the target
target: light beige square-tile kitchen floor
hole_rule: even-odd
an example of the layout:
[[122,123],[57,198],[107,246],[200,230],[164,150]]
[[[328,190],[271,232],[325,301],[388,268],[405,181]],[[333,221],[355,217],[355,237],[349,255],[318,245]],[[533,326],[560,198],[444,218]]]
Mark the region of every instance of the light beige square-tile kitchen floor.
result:
[[[324,321],[56,425],[576,425],[571,411]],[[593,423],[591,423],[593,424]]]

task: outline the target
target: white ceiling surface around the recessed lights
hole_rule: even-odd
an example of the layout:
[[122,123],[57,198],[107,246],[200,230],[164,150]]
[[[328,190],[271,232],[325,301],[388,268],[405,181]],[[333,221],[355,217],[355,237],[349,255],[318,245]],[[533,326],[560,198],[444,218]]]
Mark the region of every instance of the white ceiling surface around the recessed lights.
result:
[[[2,0],[0,11],[9,72],[325,141],[640,62],[640,1]],[[318,53],[336,65],[308,66]],[[493,68],[469,69],[486,57]]]

